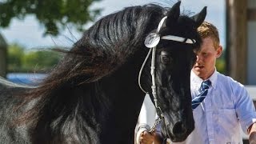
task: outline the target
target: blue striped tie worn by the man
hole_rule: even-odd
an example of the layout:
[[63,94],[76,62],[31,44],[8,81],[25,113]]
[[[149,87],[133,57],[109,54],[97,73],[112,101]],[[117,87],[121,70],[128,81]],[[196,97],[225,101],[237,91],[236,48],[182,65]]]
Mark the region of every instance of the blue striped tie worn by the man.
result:
[[193,110],[200,105],[200,103],[203,101],[204,98],[206,98],[206,95],[208,93],[208,89],[209,89],[210,85],[211,85],[210,79],[202,82],[202,85],[199,90],[200,94],[198,94],[198,96],[196,96],[192,100],[192,109]]

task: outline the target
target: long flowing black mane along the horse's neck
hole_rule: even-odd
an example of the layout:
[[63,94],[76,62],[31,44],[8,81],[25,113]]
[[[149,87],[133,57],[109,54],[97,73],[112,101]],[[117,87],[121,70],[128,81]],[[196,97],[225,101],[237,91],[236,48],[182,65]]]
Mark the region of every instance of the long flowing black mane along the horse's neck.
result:
[[[165,13],[164,8],[153,4],[127,7],[91,26],[45,82],[26,94],[26,102],[39,99],[22,120],[32,121],[35,126],[33,131],[49,134],[42,137],[37,133],[35,138],[39,136],[39,139],[34,142],[47,142],[46,138],[56,134],[63,134],[54,140],[57,142],[72,135],[81,137],[78,139],[88,139],[89,143],[97,142],[92,135],[101,130],[97,123],[104,119],[104,110],[110,109],[107,104],[109,99],[99,98],[104,77],[126,62],[136,62],[133,59],[136,53],[141,55],[146,52],[143,49],[144,38],[150,32],[150,27],[153,30],[158,25],[157,18],[162,18]],[[84,87],[82,91],[79,91],[80,87]],[[96,109],[91,109],[91,106]],[[80,123],[84,122],[82,119],[86,119],[87,123]],[[54,126],[51,126],[53,123]],[[52,128],[54,130],[50,130]],[[72,134],[67,133],[66,129],[72,129]],[[84,131],[88,134],[82,134]],[[51,134],[53,132],[55,134]]]

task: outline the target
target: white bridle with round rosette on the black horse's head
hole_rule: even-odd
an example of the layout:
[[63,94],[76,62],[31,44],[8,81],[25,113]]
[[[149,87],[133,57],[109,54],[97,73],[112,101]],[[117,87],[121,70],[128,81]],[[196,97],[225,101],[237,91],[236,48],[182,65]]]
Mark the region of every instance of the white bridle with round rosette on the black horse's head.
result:
[[158,29],[156,30],[156,33],[150,33],[149,35],[147,35],[144,44],[146,47],[150,48],[150,50],[149,50],[148,54],[146,55],[146,58],[145,58],[144,62],[142,63],[141,70],[139,71],[139,74],[138,74],[138,86],[141,88],[141,90],[144,93],[149,94],[149,92],[147,92],[146,90],[144,90],[142,88],[140,79],[141,79],[141,75],[142,75],[142,70],[143,70],[143,68],[146,64],[146,61],[149,58],[150,53],[152,51],[151,66],[150,66],[150,74],[151,74],[151,78],[152,78],[151,90],[152,90],[152,94],[154,97],[154,106],[155,106],[155,109],[158,114],[158,119],[155,121],[154,126],[150,128],[150,131],[154,130],[154,127],[158,124],[158,122],[160,122],[160,119],[163,118],[162,110],[158,106],[158,99],[157,99],[155,79],[154,79],[155,78],[154,77],[155,52],[156,52],[156,47],[158,46],[158,43],[160,42],[161,39],[175,41],[175,42],[184,42],[184,43],[188,43],[188,44],[194,44],[196,42],[196,40],[194,40],[194,39],[182,38],[182,37],[178,37],[175,35],[165,35],[165,36],[161,37],[158,33],[159,33],[160,29],[162,28],[162,25],[165,22],[166,18],[167,18],[167,16],[162,18],[162,20],[159,22]]

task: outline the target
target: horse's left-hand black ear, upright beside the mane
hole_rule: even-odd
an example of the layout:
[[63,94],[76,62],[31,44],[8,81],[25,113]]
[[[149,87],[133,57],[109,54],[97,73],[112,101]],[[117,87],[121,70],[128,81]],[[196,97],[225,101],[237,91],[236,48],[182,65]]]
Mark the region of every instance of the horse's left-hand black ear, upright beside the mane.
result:
[[180,13],[180,5],[180,1],[176,2],[174,6],[170,9],[170,11],[167,13],[166,26],[172,26],[173,22],[177,22]]

